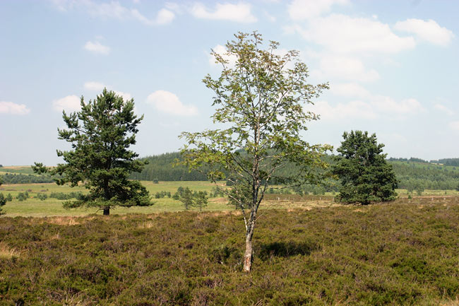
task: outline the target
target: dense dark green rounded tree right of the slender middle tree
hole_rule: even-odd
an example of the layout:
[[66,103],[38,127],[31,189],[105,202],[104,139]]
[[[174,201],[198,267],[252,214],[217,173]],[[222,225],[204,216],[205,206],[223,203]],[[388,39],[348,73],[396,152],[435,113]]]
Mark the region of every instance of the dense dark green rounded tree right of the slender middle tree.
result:
[[376,201],[393,201],[397,194],[397,180],[392,166],[386,162],[383,144],[378,144],[376,134],[345,132],[332,172],[341,181],[338,200],[344,203],[370,204]]

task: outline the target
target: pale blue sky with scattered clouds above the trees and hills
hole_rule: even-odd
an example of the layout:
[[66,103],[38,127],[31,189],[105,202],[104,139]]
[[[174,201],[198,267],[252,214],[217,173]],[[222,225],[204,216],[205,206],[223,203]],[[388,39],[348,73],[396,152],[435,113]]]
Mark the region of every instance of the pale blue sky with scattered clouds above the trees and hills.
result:
[[210,50],[257,30],[296,49],[320,114],[302,135],[340,146],[376,133],[388,157],[459,158],[459,1],[0,1],[0,164],[61,163],[62,110],[103,88],[144,114],[141,156],[177,151],[212,128]]

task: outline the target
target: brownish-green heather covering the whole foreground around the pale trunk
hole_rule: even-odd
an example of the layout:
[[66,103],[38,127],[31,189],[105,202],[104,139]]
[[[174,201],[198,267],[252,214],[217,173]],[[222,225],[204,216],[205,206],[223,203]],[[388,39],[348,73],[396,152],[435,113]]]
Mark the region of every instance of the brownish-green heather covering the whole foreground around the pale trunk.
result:
[[1,218],[0,305],[439,305],[459,295],[459,206]]

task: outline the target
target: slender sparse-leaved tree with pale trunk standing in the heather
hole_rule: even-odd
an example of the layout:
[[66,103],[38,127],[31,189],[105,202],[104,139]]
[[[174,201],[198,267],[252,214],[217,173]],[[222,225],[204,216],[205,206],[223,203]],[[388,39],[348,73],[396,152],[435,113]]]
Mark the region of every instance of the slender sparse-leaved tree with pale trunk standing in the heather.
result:
[[[270,182],[311,182],[318,178],[315,167],[326,166],[320,156],[330,146],[311,145],[301,134],[306,122],[318,119],[304,107],[328,84],[306,83],[308,69],[297,51],[280,54],[279,43],[273,41],[263,49],[256,32],[234,36],[225,54],[211,52],[222,66],[220,76],[203,79],[215,93],[213,122],[222,127],[183,132],[188,144],[181,153],[191,169],[205,166],[210,180],[229,180],[235,186],[227,195],[244,216],[244,271],[250,271],[258,206]],[[291,164],[297,172],[280,171]]]

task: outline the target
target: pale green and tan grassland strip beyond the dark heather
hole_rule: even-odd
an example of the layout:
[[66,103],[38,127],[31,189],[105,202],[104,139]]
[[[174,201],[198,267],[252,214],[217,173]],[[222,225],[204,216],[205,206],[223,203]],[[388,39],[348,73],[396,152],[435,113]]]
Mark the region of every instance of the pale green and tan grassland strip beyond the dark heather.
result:
[[[154,197],[156,192],[170,192],[174,194],[177,192],[177,188],[189,187],[191,190],[196,191],[207,191],[210,192],[215,185],[210,182],[159,182],[159,184],[153,184],[153,182],[142,182],[147,187],[151,196]],[[225,183],[221,182],[220,187],[225,187]],[[4,184],[0,186],[0,192],[5,196],[11,194],[13,201],[7,202],[4,206],[4,211],[7,216],[34,216],[34,217],[45,217],[45,216],[86,216],[91,213],[97,213],[97,208],[74,208],[64,209],[62,207],[62,200],[58,199],[46,199],[40,201],[37,199],[37,194],[47,194],[49,196],[52,192],[86,192],[84,187],[71,188],[68,186],[58,186],[54,183],[49,184]],[[18,201],[16,196],[20,192],[28,192],[30,199],[26,201]],[[408,201],[406,198],[408,193],[406,189],[398,189],[400,201]],[[429,198],[430,196],[430,198]],[[455,196],[459,196],[459,192],[455,190],[426,190],[422,196],[412,196],[412,200],[417,203],[417,199],[427,199],[426,201],[440,201],[441,199],[455,199]],[[299,196],[295,194],[282,194],[282,195],[266,195],[266,205],[263,208],[310,208],[314,206],[336,206],[333,203],[333,195],[326,193],[325,196]],[[126,213],[157,213],[157,212],[174,212],[183,211],[184,206],[180,201],[163,198],[163,199],[152,199],[155,201],[155,205],[150,207],[131,207],[131,208],[114,208],[111,213],[114,214],[126,214]],[[423,200],[424,201],[424,200]],[[459,199],[458,199],[459,201]],[[209,204],[204,208],[205,211],[232,211],[234,208],[227,205],[227,200],[224,198],[210,198]],[[100,213],[100,212],[99,212]]]

